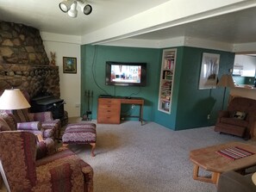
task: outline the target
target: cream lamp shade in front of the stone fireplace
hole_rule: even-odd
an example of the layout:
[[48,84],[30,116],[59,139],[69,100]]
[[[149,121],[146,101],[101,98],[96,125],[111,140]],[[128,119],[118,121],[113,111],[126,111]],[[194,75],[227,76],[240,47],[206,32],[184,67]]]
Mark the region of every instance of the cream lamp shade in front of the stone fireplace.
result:
[[0,109],[14,110],[30,107],[27,99],[19,89],[4,90],[3,95],[0,97]]

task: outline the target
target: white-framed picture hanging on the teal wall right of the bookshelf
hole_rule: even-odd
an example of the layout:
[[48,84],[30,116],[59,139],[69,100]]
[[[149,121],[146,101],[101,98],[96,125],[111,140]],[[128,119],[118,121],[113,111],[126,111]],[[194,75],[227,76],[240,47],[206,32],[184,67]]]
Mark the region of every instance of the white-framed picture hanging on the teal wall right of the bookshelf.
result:
[[219,54],[203,53],[199,79],[199,90],[216,88],[219,64]]

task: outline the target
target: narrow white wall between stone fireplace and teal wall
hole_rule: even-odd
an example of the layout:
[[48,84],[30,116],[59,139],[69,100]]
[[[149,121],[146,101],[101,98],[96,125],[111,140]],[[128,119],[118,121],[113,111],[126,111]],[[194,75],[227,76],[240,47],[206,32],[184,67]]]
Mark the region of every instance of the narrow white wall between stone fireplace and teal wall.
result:
[[[66,101],[64,106],[69,117],[80,116],[80,96],[81,96],[81,57],[79,40],[66,36],[65,40],[53,38],[56,34],[41,32],[41,37],[51,59],[50,52],[56,53],[56,65],[59,66],[60,98]],[[61,37],[61,34],[58,36]],[[62,42],[61,42],[62,41]],[[63,73],[63,57],[77,58],[77,73]]]

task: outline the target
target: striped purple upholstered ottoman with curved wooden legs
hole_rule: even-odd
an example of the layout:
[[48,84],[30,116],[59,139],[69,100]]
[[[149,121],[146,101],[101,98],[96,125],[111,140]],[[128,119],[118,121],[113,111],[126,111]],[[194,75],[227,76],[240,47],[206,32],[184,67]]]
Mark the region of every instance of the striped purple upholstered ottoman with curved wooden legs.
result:
[[62,136],[62,143],[63,146],[67,146],[68,144],[90,144],[91,156],[94,157],[96,136],[96,124],[94,123],[68,124]]

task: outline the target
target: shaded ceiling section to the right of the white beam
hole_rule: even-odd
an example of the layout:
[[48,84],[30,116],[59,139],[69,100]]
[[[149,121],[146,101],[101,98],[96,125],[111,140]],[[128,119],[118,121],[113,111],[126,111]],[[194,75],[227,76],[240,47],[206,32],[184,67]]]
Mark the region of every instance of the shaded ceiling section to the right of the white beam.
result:
[[188,36],[227,43],[256,42],[256,8],[244,9],[198,22],[138,35],[138,39],[165,40]]

